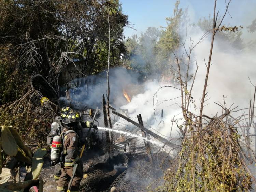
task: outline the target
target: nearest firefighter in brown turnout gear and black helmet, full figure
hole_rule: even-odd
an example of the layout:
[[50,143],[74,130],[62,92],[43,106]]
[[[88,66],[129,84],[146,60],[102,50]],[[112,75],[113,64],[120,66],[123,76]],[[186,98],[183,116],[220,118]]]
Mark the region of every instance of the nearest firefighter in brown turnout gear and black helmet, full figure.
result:
[[76,133],[76,129],[80,121],[81,117],[79,113],[71,113],[62,121],[68,126],[68,128],[65,128],[61,133],[61,137],[63,139],[63,151],[61,158],[61,175],[58,181],[57,192],[67,190],[68,183],[73,175],[72,172],[75,163],[78,163],[78,168],[75,173],[70,192],[79,190],[79,185],[83,176],[83,164],[79,161],[79,138]]

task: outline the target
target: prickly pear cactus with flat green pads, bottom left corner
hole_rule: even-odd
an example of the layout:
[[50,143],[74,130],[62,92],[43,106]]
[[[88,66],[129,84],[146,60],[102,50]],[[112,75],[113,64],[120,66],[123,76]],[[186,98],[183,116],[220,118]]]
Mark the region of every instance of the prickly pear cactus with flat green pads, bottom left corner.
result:
[[[1,149],[8,156],[15,157],[15,159],[32,164],[31,171],[27,173],[25,181],[21,183],[6,182],[0,185],[1,192],[20,192],[24,188],[30,188],[30,186],[38,185],[41,186],[43,182],[38,179],[43,166],[43,156],[46,154],[45,148],[38,149],[34,155],[30,148],[28,148],[19,133],[12,126],[2,126],[0,136],[0,174],[2,171],[2,156]],[[42,179],[41,179],[42,180]]]

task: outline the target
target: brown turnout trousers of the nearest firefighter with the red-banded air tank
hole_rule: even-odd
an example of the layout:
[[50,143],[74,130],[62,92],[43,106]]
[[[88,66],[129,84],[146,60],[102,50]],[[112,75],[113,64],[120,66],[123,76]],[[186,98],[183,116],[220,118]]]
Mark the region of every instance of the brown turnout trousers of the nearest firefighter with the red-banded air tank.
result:
[[[57,192],[66,191],[68,189],[69,181],[72,177],[73,166],[61,167],[61,175],[58,181]],[[75,177],[72,182],[70,192],[75,192],[79,190],[79,185],[83,177],[83,164],[79,163],[76,169]]]

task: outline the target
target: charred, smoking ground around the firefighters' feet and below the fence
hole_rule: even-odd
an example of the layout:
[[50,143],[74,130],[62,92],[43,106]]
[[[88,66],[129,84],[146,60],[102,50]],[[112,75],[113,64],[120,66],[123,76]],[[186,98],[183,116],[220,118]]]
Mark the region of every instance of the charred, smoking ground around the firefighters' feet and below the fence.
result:
[[[82,178],[80,192],[110,191],[112,186],[118,191],[126,191],[122,187],[142,191],[163,173],[160,164],[152,166],[146,154],[117,154],[110,157],[103,150],[89,149],[84,152],[82,162],[83,173],[87,173],[88,177]],[[48,152],[40,174],[44,181],[44,191],[56,191],[57,181],[54,180],[53,173],[54,166],[51,166]],[[122,173],[125,175],[123,179],[127,186],[122,186],[124,184],[120,183],[118,176]],[[31,188],[30,191],[33,189]]]

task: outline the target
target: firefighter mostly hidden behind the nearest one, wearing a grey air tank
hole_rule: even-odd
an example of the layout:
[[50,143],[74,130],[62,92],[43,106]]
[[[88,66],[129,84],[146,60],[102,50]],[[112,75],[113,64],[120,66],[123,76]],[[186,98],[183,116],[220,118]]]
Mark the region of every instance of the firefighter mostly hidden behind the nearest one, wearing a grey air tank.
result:
[[[57,122],[53,122],[51,124],[51,131],[49,133],[49,135],[47,136],[47,145],[52,148],[52,141],[53,141],[53,137],[56,135],[60,135],[62,130],[64,129],[63,125],[62,125],[62,120],[65,119],[70,113],[73,112],[73,110],[69,107],[63,107],[61,109],[61,115],[56,117],[55,120],[58,121]],[[60,166],[60,162],[52,162],[52,165],[54,165],[54,180],[58,181],[60,174],[61,174],[61,166]]]

